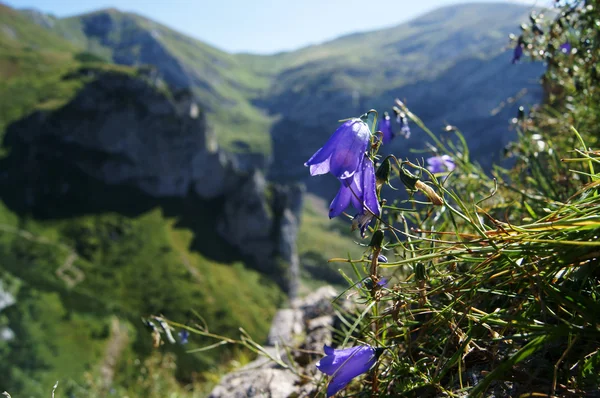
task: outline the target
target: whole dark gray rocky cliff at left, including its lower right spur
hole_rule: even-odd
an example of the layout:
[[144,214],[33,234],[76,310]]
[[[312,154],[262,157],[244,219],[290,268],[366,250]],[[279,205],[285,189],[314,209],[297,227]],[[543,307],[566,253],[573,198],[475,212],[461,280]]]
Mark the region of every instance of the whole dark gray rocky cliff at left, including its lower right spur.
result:
[[15,167],[5,178],[22,171],[23,201],[35,206],[47,190],[60,197],[71,189],[68,174],[45,174],[58,161],[152,197],[192,195],[198,206],[217,203],[217,225],[205,227],[293,293],[295,282],[288,281],[298,273],[302,188],[270,184],[260,170],[241,170],[220,150],[188,91],[171,94],[160,80],[110,69],[82,67],[76,74],[88,82],[71,101],[7,129]]

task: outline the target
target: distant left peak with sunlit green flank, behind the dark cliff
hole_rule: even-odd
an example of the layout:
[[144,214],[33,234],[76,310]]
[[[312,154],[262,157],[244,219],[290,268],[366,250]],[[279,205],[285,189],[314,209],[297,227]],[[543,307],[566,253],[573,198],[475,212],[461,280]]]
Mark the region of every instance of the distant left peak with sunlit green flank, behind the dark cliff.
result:
[[235,56],[147,18],[115,9],[66,19],[32,11],[26,14],[107,61],[152,65],[172,89],[191,90],[208,112],[219,143],[240,158],[255,161],[255,166],[264,167],[271,152],[270,118],[250,102],[264,90],[267,80],[251,73]]

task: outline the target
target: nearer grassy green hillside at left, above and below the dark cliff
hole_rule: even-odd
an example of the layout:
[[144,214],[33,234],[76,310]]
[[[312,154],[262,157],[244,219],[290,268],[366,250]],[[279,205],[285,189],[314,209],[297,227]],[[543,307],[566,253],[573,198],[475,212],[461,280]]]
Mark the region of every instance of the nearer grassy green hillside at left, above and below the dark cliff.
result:
[[[0,7],[0,26],[2,138],[11,123],[61,108],[104,73],[146,84],[144,73],[107,64],[10,8]],[[68,169],[68,162],[46,163],[42,175],[70,176],[75,196],[25,203],[16,193],[39,171],[11,163],[19,150],[5,145],[0,161],[0,280],[16,299],[0,313],[0,325],[17,336],[0,342],[0,389],[44,396],[58,379],[67,395],[103,395],[107,386],[134,396],[157,393],[117,376],[118,369],[131,368],[127,363],[151,358],[152,338],[141,318],[152,314],[192,321],[194,311],[216,332],[236,333],[242,326],[259,339],[266,335],[282,293],[239,255],[219,261],[198,251],[205,242],[212,253],[234,253],[199,227],[213,222],[210,207],[193,198],[160,201],[107,186]],[[183,352],[170,345],[161,351]],[[177,376],[190,380],[192,370],[214,369],[231,355],[186,355]],[[164,382],[176,385],[172,368],[148,363],[149,371],[164,372]]]

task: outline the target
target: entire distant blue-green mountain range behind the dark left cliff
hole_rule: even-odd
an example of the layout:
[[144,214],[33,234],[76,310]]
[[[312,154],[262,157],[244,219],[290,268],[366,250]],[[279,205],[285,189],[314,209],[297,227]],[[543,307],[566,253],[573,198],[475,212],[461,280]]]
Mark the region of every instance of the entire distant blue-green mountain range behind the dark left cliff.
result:
[[[525,68],[517,75],[509,71],[508,53],[504,59],[495,59],[504,50],[508,33],[529,11],[529,7],[507,3],[449,6],[397,27],[270,56],[227,54],[147,18],[114,9],[54,19],[45,26],[52,25],[52,31],[118,64],[153,65],[169,85],[191,89],[207,110],[217,141],[238,154],[241,167],[266,167],[274,157],[271,178],[286,180],[297,179],[301,173],[290,162],[301,165],[337,119],[371,107],[389,108],[394,97],[404,97],[417,110],[427,108],[426,103],[437,109],[440,103],[453,102],[456,92],[442,92],[446,80],[469,81],[469,74],[461,74],[464,70],[457,67],[459,62],[466,65],[468,60],[479,60],[480,69],[501,73],[495,81],[505,90],[497,97],[498,103],[506,99],[504,94],[515,95],[523,86],[535,91],[532,79],[541,66]],[[504,70],[499,71],[497,63]],[[424,102],[418,92],[407,93],[414,87],[436,96]],[[474,105],[477,91],[464,94],[463,106],[480,108],[477,118],[487,120],[495,106],[484,111]],[[539,90],[522,102],[534,102],[538,95]],[[507,141],[498,141],[496,136],[513,110],[508,107],[496,119],[489,119],[489,125],[498,127],[489,134],[492,146]],[[437,112],[433,121],[453,119],[469,132],[472,126],[461,123],[463,115]],[[469,113],[467,119],[472,118]],[[305,140],[306,151],[299,153],[293,145],[297,135]],[[407,144],[422,147],[418,137],[402,146]],[[489,167],[489,159],[485,154],[479,160]]]

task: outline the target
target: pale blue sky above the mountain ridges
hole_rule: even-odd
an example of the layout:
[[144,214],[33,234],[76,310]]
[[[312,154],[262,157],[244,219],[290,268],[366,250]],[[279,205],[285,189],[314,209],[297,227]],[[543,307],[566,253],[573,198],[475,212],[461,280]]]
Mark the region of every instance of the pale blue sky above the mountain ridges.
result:
[[[479,0],[490,2],[492,0]],[[498,1],[498,0],[494,0]],[[116,7],[230,52],[273,53],[397,25],[456,0],[0,0],[59,17]],[[548,0],[513,0],[547,5]]]

